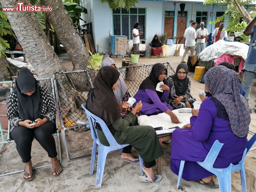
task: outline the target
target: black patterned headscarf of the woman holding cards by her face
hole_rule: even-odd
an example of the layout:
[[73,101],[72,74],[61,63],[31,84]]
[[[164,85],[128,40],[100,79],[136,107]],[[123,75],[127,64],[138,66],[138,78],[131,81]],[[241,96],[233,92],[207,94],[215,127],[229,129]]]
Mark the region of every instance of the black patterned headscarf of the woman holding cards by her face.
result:
[[[156,91],[157,83],[159,83],[159,76],[162,73],[163,70],[166,70],[166,76],[167,76],[167,68],[162,63],[156,63],[150,72],[150,75],[142,81],[139,89],[150,89],[152,91],[155,91],[160,98],[163,95],[163,92]],[[168,85],[168,81],[166,79],[163,80],[164,84]]]

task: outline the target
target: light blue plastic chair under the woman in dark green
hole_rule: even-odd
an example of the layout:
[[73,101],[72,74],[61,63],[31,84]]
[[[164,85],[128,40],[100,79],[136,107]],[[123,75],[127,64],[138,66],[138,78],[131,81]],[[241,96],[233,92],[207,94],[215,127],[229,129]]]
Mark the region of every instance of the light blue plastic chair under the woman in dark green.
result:
[[[121,154],[123,151],[123,147],[126,147],[129,144],[124,144],[124,145],[118,144],[116,142],[115,138],[113,137],[113,135],[111,134],[111,132],[109,131],[109,128],[106,125],[106,123],[102,119],[100,119],[98,116],[96,116],[96,115],[92,114],[90,111],[88,111],[86,109],[85,104],[82,104],[82,108],[86,112],[86,115],[87,115],[87,118],[88,118],[88,121],[90,124],[90,128],[91,128],[91,135],[93,138],[90,175],[93,174],[96,151],[97,151],[97,147],[99,146],[98,164],[97,164],[97,173],[96,173],[96,186],[101,187],[107,154],[110,151],[114,151],[114,150],[118,150],[118,149],[120,150],[120,154]],[[100,124],[101,129],[104,132],[104,135],[106,136],[110,146],[105,146],[105,145],[101,144],[100,141],[97,139],[99,137],[98,137],[98,133],[95,129],[96,123]],[[95,133],[96,133],[97,137],[96,137]],[[140,157],[140,155],[139,155],[139,159],[140,159],[141,176],[143,176],[144,175],[143,170],[142,170],[143,159]]]

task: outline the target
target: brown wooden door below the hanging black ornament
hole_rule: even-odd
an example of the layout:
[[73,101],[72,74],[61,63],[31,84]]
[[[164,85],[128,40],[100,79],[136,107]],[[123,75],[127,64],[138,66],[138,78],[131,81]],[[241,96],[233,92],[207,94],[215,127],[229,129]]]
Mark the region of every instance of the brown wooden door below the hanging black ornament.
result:
[[187,28],[187,12],[184,11],[183,15],[181,15],[181,12],[178,12],[178,18],[177,18],[177,35],[176,35],[176,43],[178,39],[179,44],[185,43],[184,33],[185,29]]

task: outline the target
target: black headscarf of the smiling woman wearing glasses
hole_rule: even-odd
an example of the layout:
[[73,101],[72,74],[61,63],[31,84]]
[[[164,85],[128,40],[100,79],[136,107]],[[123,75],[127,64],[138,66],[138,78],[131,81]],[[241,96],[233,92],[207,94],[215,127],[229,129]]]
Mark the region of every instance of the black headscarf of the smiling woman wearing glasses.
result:
[[[186,72],[186,78],[183,80],[180,80],[178,78],[178,71],[183,68]],[[170,76],[171,78],[173,78],[174,81],[174,88],[175,88],[175,92],[176,95],[178,96],[182,96],[185,95],[187,87],[188,87],[188,82],[189,82],[189,78],[188,78],[188,66],[185,63],[180,63],[176,69],[176,73]]]

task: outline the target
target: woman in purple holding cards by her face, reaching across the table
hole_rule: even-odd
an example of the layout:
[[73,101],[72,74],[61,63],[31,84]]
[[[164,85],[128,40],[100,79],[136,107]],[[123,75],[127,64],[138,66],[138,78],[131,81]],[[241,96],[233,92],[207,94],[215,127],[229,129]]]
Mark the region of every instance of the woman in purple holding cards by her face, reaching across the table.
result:
[[[164,64],[156,63],[152,67],[150,75],[141,83],[138,92],[134,95],[135,103],[142,102],[143,108],[140,111],[142,114],[150,116],[167,113],[173,123],[178,123],[177,116],[172,112],[173,108],[165,102],[170,91],[166,76],[167,68]],[[164,83],[160,85],[161,91],[156,91],[157,83],[161,81]]]

